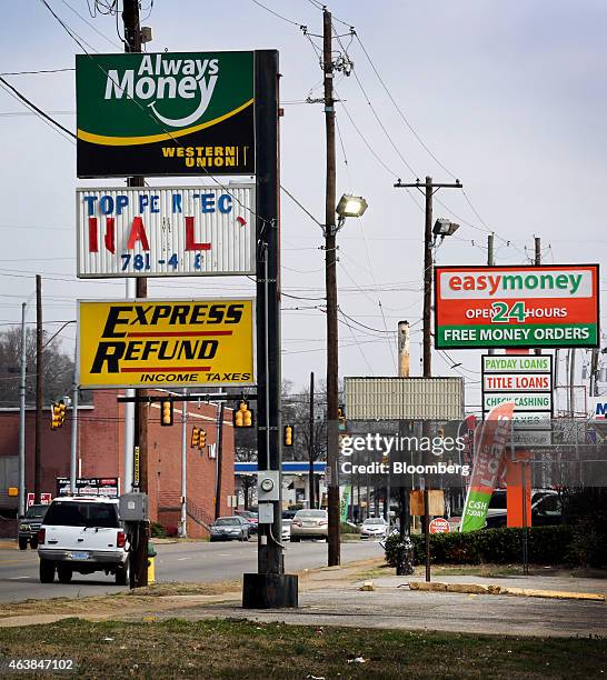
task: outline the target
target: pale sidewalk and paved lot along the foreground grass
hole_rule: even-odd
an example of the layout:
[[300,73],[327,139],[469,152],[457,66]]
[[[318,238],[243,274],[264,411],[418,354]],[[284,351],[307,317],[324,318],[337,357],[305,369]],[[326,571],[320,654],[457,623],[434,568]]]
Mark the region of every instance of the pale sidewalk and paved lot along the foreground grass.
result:
[[[607,603],[504,594],[465,594],[409,590],[422,577],[382,576],[375,590],[361,591],[360,579],[372,561],[325,568],[300,574],[299,609],[243,610],[240,590],[220,594],[123,596],[97,598],[94,607],[69,612],[23,612],[0,619],[0,626],[27,626],[80,617],[88,620],[150,621],[247,618],[302,626],[347,626],[475,632],[525,637],[605,637]],[[377,561],[376,561],[377,563]],[[367,580],[367,579],[365,579]],[[441,576],[436,581],[607,594],[607,580],[595,578]],[[71,608],[70,608],[71,609]],[[17,611],[14,612],[17,613]]]

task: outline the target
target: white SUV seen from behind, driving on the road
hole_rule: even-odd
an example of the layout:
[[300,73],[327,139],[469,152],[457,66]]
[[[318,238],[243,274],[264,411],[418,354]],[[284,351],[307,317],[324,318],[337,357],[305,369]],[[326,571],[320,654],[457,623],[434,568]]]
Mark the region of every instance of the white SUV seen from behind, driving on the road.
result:
[[129,550],[118,500],[61,497],[50,504],[38,532],[40,582],[52,583],[54,572],[69,583],[73,572],[105,571],[116,582],[129,582]]

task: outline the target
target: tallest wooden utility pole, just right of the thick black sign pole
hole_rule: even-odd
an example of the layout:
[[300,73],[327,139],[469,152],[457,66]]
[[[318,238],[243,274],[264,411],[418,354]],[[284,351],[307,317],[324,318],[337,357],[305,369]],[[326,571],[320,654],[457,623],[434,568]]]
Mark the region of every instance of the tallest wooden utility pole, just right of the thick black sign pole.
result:
[[337,474],[338,394],[338,328],[337,328],[337,257],[336,257],[336,159],[335,159],[335,99],[332,63],[331,13],[322,10],[322,70],[325,72],[325,129],[327,148],[327,181],[325,193],[325,284],[327,290],[327,467],[329,471],[328,564],[340,561],[339,544],[339,480]]

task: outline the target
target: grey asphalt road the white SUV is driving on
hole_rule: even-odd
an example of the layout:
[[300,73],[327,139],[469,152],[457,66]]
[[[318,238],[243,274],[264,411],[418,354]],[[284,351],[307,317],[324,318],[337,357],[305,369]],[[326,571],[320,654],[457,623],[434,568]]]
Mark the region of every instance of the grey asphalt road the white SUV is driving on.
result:
[[[157,544],[156,576],[159,582],[209,583],[240,579],[243,572],[257,571],[257,541],[225,543],[185,542]],[[341,546],[341,561],[381,557],[377,542],[348,542]],[[327,543],[289,544],[285,552],[287,572],[315,569],[327,564]],[[103,572],[73,574],[71,583],[40,583],[38,553],[16,550],[14,541],[0,541],[0,602],[48,598],[77,598],[120,592],[113,577]]]

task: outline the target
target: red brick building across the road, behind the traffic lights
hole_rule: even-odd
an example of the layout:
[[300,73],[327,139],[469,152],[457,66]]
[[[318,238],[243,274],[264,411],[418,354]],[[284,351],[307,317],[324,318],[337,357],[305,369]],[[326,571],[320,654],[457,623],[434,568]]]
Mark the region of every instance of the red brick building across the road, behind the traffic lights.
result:
[[[118,477],[125,488],[123,404],[117,402],[117,390],[94,390],[92,406],[78,409],[78,477]],[[160,404],[149,407],[148,494],[151,521],[177,526],[181,502],[181,422],[182,404],[175,404],[175,424],[160,426]],[[212,403],[188,404],[187,430],[187,509],[188,536],[208,536],[207,526],[215,518],[217,484],[218,407]],[[193,427],[207,431],[203,450],[190,447]],[[227,497],[233,494],[232,411],[225,409],[221,454],[221,514],[228,514]],[[57,493],[57,478],[69,477],[71,410],[66,424],[50,429],[50,410],[44,410],[41,448],[41,491]],[[18,486],[19,409],[0,410],[0,509],[10,511],[17,499],[8,497],[8,487]],[[26,416],[26,487],[33,491],[34,411]]]

